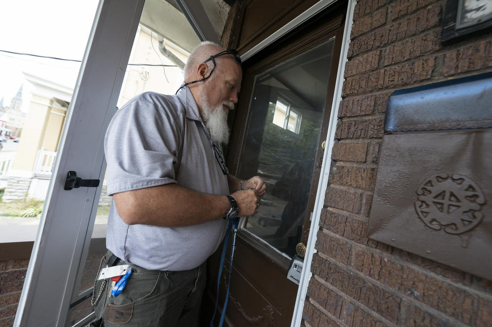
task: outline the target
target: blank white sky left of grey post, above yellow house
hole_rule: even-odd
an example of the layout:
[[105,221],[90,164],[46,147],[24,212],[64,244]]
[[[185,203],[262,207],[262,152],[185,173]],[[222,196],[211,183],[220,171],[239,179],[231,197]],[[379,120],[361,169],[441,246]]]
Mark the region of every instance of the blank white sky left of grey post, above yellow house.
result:
[[[82,60],[99,0],[1,0],[0,50]],[[0,99],[21,72],[73,87],[80,63],[0,52]],[[13,94],[12,94],[13,93]]]

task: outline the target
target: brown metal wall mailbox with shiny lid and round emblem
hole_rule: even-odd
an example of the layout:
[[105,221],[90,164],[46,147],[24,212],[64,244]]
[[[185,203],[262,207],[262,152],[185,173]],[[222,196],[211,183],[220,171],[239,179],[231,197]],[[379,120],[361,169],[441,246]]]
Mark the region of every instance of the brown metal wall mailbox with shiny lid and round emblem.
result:
[[492,280],[492,74],[394,92],[373,240]]

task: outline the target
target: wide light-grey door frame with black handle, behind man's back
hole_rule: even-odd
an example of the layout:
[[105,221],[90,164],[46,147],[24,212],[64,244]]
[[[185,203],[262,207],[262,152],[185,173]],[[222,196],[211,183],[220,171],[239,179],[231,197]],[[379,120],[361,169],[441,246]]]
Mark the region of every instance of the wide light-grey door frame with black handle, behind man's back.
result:
[[104,179],[103,140],[116,111],[144,0],[100,0],[34,242],[14,326],[65,326],[102,188],[64,191],[67,172]]

